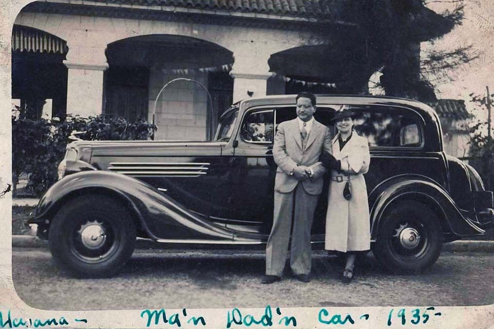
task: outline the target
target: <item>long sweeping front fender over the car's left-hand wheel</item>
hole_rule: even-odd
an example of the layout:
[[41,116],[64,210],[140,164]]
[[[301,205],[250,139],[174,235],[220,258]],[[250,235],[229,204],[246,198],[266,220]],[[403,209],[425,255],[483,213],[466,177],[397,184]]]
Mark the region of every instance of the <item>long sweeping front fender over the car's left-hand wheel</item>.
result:
[[108,171],[84,171],[65,176],[40,199],[34,221],[51,221],[73,197],[104,193],[130,206],[140,225],[154,240],[233,240],[232,230],[209,222],[138,179]]

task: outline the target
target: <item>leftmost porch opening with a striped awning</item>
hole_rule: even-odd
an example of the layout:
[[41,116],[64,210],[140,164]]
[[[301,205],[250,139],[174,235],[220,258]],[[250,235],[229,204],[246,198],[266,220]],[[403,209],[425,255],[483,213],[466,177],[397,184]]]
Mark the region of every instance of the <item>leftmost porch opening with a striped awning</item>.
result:
[[42,30],[12,29],[12,102],[26,116],[64,118],[67,107],[67,43]]

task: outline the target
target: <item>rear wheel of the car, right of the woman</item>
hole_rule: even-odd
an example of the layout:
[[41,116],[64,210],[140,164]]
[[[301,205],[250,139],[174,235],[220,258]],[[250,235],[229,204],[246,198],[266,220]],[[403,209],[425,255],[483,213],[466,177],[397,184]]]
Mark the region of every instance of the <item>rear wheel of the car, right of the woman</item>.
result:
[[442,246],[437,216],[424,204],[407,201],[384,213],[373,252],[392,272],[418,273],[435,263]]

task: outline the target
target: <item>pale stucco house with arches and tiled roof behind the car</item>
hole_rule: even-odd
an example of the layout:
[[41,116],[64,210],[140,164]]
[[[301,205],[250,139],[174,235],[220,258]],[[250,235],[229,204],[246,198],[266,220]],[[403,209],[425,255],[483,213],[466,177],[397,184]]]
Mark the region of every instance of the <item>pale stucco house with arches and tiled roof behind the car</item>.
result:
[[[33,2],[12,30],[12,98],[33,108],[33,117],[116,114],[154,122],[155,139],[209,138],[219,115],[243,98],[367,93],[378,64],[366,58],[372,45],[362,38],[358,15],[351,15],[359,9],[352,6],[332,0]],[[415,26],[434,14],[420,7]],[[394,75],[418,76],[421,41],[410,40],[412,65]],[[177,78],[189,80],[170,83],[156,99]]]

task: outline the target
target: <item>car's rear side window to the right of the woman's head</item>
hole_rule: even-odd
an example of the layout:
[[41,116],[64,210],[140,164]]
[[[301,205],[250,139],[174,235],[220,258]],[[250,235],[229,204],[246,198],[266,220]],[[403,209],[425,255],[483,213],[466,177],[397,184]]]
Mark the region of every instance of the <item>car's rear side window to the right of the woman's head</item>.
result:
[[413,113],[380,106],[352,109],[357,113],[354,129],[368,139],[369,146],[418,148],[422,144],[419,120]]

